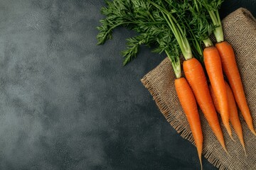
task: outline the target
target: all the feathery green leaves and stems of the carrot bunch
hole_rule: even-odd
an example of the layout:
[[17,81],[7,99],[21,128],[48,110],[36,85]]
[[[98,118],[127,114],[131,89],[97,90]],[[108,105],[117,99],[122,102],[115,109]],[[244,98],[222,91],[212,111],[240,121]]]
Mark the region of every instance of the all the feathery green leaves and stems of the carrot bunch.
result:
[[[218,15],[221,2],[222,0],[212,2],[208,0],[106,1],[107,6],[101,10],[106,18],[100,21],[102,26],[97,27],[100,30],[97,35],[97,44],[104,44],[106,40],[111,39],[114,28],[122,26],[135,30],[139,35],[127,39],[127,49],[122,51],[123,64],[127,64],[137,56],[140,45],[147,45],[154,47],[154,52],[166,53],[171,60],[176,77],[179,78],[181,77],[180,54],[189,60],[193,54],[202,56],[202,41],[205,45],[212,45],[208,39],[212,27],[206,24],[206,16],[210,16],[209,18],[213,21],[217,41],[223,41],[223,31]],[[209,14],[199,15],[202,11],[204,13],[208,11]]]

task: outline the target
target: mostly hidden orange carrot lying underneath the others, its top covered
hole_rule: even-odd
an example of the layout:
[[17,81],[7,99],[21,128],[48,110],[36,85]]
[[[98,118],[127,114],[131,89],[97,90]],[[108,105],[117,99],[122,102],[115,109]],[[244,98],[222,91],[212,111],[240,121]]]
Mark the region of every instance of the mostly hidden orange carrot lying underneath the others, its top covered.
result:
[[[238,135],[238,139],[240,140],[240,143],[245,151],[245,142],[244,142],[243,136],[242,136],[242,125],[238,118],[238,108],[235,104],[235,98],[233,96],[232,90],[230,89],[230,86],[228,85],[228,83],[226,81],[225,81],[225,88],[227,90],[227,95],[228,95],[228,110],[230,113],[230,122],[233,125],[233,128],[234,128],[236,134]],[[218,100],[216,98],[216,95],[213,91],[212,86],[209,85],[209,89],[210,89],[210,95],[213,98],[213,103],[216,108],[216,111],[218,113],[220,113],[220,106],[219,106]],[[245,152],[245,155],[246,155],[246,152]]]

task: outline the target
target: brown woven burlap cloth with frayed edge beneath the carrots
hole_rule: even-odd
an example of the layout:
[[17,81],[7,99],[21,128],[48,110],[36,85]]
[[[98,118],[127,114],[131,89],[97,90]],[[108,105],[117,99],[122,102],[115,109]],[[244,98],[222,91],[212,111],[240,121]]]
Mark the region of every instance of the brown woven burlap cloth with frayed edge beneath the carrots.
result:
[[[256,128],[256,20],[250,11],[245,8],[230,13],[223,19],[223,31],[225,40],[233,45],[238,68],[245,89],[245,96],[251,111],[253,123]],[[193,136],[186,120],[186,115],[180,106],[174,88],[174,71],[171,62],[166,58],[159,66],[151,70],[142,78],[142,83],[153,96],[156,105],[170,125],[186,140],[193,145]],[[228,155],[224,152],[220,143],[203,117],[199,109],[201,125],[203,129],[203,156],[219,169],[256,169],[256,137],[247,128],[241,113],[243,136],[245,140],[245,152],[233,130],[235,142],[230,139],[223,123],[220,121]],[[220,118],[219,118],[220,120]]]

